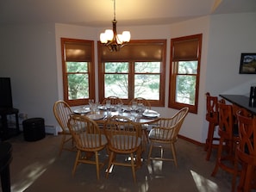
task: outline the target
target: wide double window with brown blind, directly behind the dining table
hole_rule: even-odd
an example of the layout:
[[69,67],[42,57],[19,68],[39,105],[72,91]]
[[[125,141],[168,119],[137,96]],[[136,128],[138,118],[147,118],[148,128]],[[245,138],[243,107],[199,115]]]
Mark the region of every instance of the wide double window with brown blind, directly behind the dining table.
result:
[[131,40],[119,52],[98,42],[99,99],[118,96],[124,103],[144,97],[165,104],[166,40]]

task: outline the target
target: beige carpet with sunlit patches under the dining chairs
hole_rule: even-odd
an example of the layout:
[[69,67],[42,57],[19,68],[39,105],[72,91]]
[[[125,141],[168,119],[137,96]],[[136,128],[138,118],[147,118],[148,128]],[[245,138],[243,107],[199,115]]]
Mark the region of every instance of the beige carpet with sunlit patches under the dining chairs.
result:
[[[179,139],[176,145],[178,168],[172,162],[154,161],[136,171],[137,183],[133,182],[132,171],[128,167],[115,166],[106,179],[104,167],[101,179],[97,181],[96,167],[80,164],[74,177],[72,166],[75,152],[63,152],[59,157],[60,135],[47,135],[34,142],[24,141],[22,134],[9,139],[13,146],[13,160],[10,164],[11,189],[13,192],[77,192],[77,191],[230,191],[231,179],[219,170],[216,177],[210,177],[214,168],[214,158],[205,160],[202,146]],[[155,152],[157,153],[157,152]],[[171,155],[166,152],[165,155]],[[143,154],[144,158],[147,152]],[[215,156],[215,154],[214,154]],[[101,158],[107,158],[105,152]],[[122,157],[124,158],[124,157]]]

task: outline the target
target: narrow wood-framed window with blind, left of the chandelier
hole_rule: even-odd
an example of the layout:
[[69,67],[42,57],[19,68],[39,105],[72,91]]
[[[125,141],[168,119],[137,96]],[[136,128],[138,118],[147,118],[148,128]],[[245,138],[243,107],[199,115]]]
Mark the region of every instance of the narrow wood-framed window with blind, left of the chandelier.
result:
[[84,105],[95,97],[93,41],[61,38],[61,51],[64,101]]

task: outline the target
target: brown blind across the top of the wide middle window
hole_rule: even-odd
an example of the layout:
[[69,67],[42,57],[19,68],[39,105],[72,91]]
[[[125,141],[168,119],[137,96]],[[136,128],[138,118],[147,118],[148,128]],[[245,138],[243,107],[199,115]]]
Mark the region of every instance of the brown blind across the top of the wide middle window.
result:
[[123,46],[119,52],[109,52],[108,47],[98,41],[99,56],[105,61],[162,61],[166,40],[131,40],[128,45]]

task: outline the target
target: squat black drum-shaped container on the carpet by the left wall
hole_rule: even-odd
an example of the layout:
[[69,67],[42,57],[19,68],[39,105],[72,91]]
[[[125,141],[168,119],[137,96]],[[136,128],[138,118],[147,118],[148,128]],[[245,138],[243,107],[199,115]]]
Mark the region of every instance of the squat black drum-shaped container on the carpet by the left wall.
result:
[[27,141],[40,140],[46,137],[45,121],[43,118],[30,118],[22,121],[24,139]]

